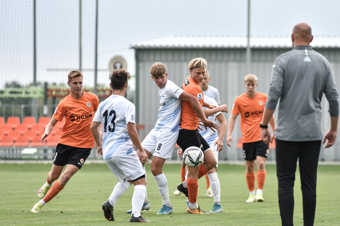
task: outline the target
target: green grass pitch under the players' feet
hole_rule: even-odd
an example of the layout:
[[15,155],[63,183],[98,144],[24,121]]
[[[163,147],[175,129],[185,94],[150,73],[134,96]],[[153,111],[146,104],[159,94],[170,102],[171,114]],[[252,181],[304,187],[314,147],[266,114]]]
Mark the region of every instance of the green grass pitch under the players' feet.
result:
[[[45,183],[52,164],[0,164],[0,225],[131,225],[133,186],[120,197],[114,207],[115,221],[106,221],[101,210],[117,183],[106,164],[85,164],[40,213],[31,213],[39,201],[37,192]],[[246,203],[249,192],[245,182],[245,166],[220,164],[223,213],[187,214],[184,195],[172,193],[181,181],[180,165],[165,164],[173,213],[156,215],[162,199],[147,166],[147,193],[150,211],[142,211],[148,225],[280,225],[275,165],[267,165],[263,203]],[[294,198],[294,225],[303,225],[300,176],[297,170]],[[255,182],[256,183],[256,182]],[[315,225],[340,225],[340,166],[319,165]],[[205,178],[199,180],[198,204],[207,212],[214,204],[205,197]]]

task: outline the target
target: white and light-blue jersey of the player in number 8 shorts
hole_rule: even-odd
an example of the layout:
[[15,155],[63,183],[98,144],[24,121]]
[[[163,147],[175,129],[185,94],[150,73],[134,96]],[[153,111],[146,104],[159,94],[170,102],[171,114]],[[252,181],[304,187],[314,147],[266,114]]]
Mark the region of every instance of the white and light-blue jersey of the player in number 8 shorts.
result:
[[184,92],[175,83],[167,80],[159,90],[159,113],[155,130],[177,132],[180,129],[182,100],[178,99]]

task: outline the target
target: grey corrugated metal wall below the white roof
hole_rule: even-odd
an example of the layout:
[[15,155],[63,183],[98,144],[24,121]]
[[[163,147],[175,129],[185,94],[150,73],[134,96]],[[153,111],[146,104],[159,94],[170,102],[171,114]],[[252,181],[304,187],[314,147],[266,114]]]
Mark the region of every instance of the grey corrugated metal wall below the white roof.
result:
[[[179,87],[189,75],[188,62],[195,57],[203,57],[208,61],[207,69],[210,72],[209,85],[217,88],[220,93],[221,103],[229,107],[229,113],[224,113],[229,119],[233,101],[236,96],[245,92],[243,78],[247,74],[258,77],[258,92],[268,93],[272,65],[275,58],[289,49],[252,49],[251,71],[246,71],[246,59],[244,49],[136,49],[136,114],[137,123],[144,124],[145,130],[140,131],[143,139],[154,127],[159,108],[159,88],[152,80],[149,69],[155,62],[163,62],[167,66],[168,79]],[[317,49],[316,49],[317,50]],[[336,78],[338,89],[340,87],[340,50],[318,49],[330,62]],[[329,129],[330,119],[328,114],[328,102],[323,98],[323,128],[324,133]],[[276,116],[276,115],[275,115]],[[243,160],[242,152],[236,148],[237,140],[241,136],[240,117],[233,131],[234,144],[227,147],[224,138],[224,150],[220,152],[220,160]],[[176,159],[173,153],[173,159]],[[275,160],[275,152],[271,150],[268,160]],[[329,149],[322,149],[320,154],[322,161],[340,161],[340,142]]]

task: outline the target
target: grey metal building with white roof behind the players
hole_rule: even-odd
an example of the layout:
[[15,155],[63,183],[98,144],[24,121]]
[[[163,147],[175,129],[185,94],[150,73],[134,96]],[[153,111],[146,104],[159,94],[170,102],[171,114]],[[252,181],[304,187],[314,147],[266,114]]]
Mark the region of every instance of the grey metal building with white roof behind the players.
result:
[[[323,54],[331,63],[338,89],[340,87],[340,37],[316,36],[311,42],[314,50]],[[131,44],[136,56],[136,117],[137,123],[145,125],[140,137],[143,139],[154,127],[158,117],[158,91],[151,79],[149,69],[155,62],[163,62],[167,66],[168,79],[179,87],[189,75],[188,62],[195,57],[203,57],[208,62],[210,86],[219,90],[221,104],[227,104],[229,113],[224,113],[229,119],[236,96],[245,92],[243,78],[247,74],[258,77],[257,91],[267,93],[272,65],[275,58],[292,48],[289,36],[251,37],[250,63],[246,60],[247,39],[244,36],[171,36]],[[322,101],[323,131],[329,129],[330,118],[328,102]],[[241,137],[240,117],[234,131],[232,147],[228,147],[224,138],[223,151],[219,160],[243,160],[241,149],[236,148],[237,140]],[[177,150],[177,149],[176,149]],[[175,152],[173,159],[176,159]],[[270,150],[268,160],[275,159],[274,150]],[[340,161],[340,141],[329,149],[322,149],[321,161]]]

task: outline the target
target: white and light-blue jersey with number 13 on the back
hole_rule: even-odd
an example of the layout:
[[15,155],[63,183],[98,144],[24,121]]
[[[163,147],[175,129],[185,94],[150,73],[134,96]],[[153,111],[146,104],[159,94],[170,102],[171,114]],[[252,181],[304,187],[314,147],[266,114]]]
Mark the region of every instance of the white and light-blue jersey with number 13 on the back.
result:
[[135,106],[123,96],[111,95],[102,101],[93,121],[103,123],[103,158],[131,154],[128,123],[135,123]]

